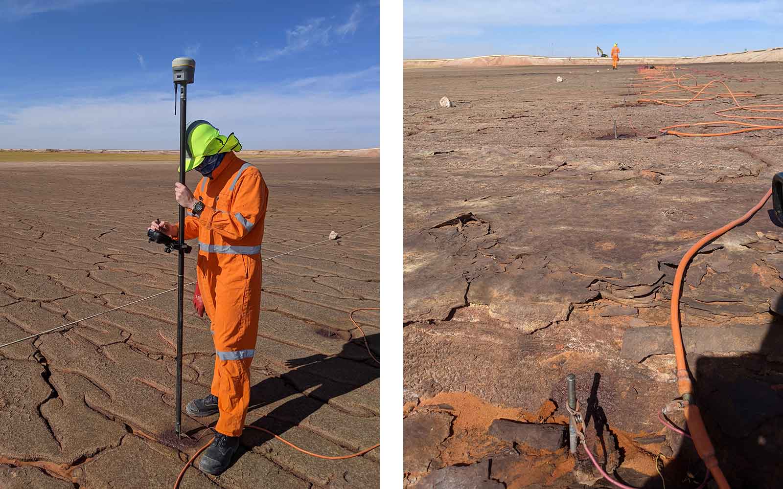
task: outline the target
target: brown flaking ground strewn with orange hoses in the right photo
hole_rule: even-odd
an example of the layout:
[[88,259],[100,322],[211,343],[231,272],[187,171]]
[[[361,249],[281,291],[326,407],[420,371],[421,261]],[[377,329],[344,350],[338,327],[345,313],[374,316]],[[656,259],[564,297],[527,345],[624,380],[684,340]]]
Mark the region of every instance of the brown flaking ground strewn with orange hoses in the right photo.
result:
[[[746,104],[783,103],[778,63],[680,68],[761,94]],[[558,75],[565,82],[503,95]],[[632,125],[655,135],[731,106],[637,105],[636,77],[622,60],[598,72],[405,70],[408,487],[605,487],[581,449],[575,461],[534,436],[489,435],[496,419],[567,423],[571,372],[590,447],[616,479],[661,487],[660,454],[666,487],[702,481],[689,440],[657,419],[678,395],[671,283],[686,250],[783,171],[783,130],[636,136]],[[430,110],[444,95],[456,106]],[[783,291],[783,230],[770,209],[698,253],[681,301],[688,362],[732,487],[783,476],[783,325],[770,311]],[[681,412],[669,418],[684,426]]]

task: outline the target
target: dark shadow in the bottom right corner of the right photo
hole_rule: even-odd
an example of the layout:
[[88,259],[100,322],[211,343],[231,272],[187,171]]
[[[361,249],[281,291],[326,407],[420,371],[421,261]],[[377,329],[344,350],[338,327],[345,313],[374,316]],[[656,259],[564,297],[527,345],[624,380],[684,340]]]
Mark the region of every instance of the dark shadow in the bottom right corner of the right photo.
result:
[[[777,299],[773,308],[783,304]],[[689,355],[698,407],[732,489],[783,487],[783,316],[771,316],[767,325],[758,326],[763,340],[754,353]],[[687,426],[680,428],[687,431]],[[706,469],[693,442],[669,430],[666,439],[679,445],[662,470],[666,487],[698,487]],[[662,487],[659,476],[644,484],[644,489]],[[717,486],[710,480],[705,487]]]

